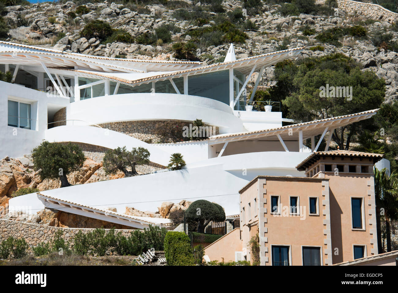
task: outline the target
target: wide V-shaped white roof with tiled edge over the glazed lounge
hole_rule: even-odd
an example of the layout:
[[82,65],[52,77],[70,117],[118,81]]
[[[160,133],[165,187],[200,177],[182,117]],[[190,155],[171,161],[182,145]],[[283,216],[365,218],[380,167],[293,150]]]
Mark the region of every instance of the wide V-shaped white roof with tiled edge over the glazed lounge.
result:
[[101,73],[89,70],[76,70],[76,69],[64,69],[50,67],[53,72],[64,74],[64,75],[82,75],[91,78],[103,78],[109,79],[111,81],[116,81],[124,83],[127,85],[139,85],[142,83],[150,83],[152,81],[162,81],[170,78],[178,78],[187,75],[197,75],[203,73],[210,73],[215,71],[221,71],[226,69],[236,69],[241,73],[247,75],[249,74],[253,67],[256,66],[257,69],[261,67],[268,67],[283,61],[289,57],[299,54],[304,47],[293,48],[283,51],[277,51],[262,55],[257,55],[253,57],[242,58],[233,61],[227,61],[222,63],[215,63],[212,65],[195,67],[193,69],[185,69],[179,71],[166,71],[166,72],[152,72],[152,73]]

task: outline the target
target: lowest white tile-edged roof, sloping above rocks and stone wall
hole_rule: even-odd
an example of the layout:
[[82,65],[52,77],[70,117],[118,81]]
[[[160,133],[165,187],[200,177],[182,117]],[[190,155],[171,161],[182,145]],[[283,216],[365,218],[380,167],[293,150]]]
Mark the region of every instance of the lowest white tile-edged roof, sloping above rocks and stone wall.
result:
[[37,193],[37,197],[39,199],[42,199],[45,202],[45,206],[49,208],[62,210],[64,212],[69,212],[72,214],[80,214],[89,218],[97,218],[100,220],[105,220],[108,222],[131,226],[135,228],[143,228],[143,226],[148,226],[149,224],[157,225],[160,227],[168,227],[171,225],[171,221],[165,218],[150,218],[119,214],[110,210],[102,210],[79,203],[72,203],[70,201],[57,199],[55,197],[43,195],[42,193]]

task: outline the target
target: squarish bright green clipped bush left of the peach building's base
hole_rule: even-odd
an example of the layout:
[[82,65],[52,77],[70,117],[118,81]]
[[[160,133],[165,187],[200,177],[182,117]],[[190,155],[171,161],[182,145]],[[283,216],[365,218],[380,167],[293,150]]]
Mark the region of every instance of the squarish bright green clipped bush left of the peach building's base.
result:
[[164,253],[168,265],[193,265],[191,240],[184,232],[167,232],[164,239]]

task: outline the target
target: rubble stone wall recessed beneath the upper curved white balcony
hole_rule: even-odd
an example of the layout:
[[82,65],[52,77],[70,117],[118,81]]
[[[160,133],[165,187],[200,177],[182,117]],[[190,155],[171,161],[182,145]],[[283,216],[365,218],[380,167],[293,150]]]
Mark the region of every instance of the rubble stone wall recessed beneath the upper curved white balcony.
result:
[[[143,142],[156,144],[162,142],[162,136],[156,134],[156,124],[159,122],[162,124],[165,121],[163,120],[121,121],[121,122],[103,123],[99,124],[99,126],[107,128],[109,130],[127,134],[128,136],[137,138],[138,140],[142,140]],[[189,127],[189,124],[192,123],[184,121],[178,121],[178,122],[179,124],[181,124],[181,128],[183,126]],[[216,130],[215,134],[219,134],[219,128],[216,127],[215,130]]]

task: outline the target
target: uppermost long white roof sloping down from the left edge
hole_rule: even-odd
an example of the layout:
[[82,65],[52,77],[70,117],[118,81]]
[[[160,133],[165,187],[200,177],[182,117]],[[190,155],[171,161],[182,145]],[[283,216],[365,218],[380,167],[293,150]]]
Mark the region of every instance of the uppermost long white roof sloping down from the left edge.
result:
[[[32,58],[33,56],[39,58]],[[77,66],[82,69],[91,68],[105,72],[175,71],[201,66],[201,63],[197,61],[110,58],[0,41],[0,63],[10,63],[12,60],[10,57],[14,59],[12,64],[29,65],[35,64],[37,59],[42,59],[41,62],[48,67],[74,68]]]

